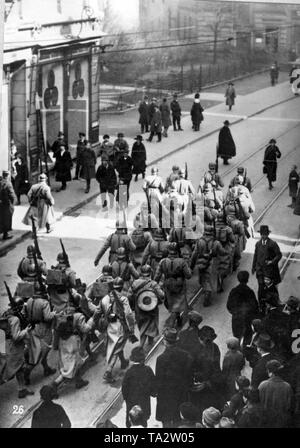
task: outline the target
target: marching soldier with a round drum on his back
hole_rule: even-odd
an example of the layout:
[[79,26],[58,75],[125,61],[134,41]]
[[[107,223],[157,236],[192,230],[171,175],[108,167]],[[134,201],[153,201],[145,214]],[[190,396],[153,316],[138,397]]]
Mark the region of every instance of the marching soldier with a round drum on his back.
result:
[[151,266],[141,267],[141,277],[135,280],[129,291],[128,299],[135,310],[135,318],[140,331],[140,345],[144,346],[148,338],[151,347],[154,338],[159,334],[158,305],[162,303],[164,292],[157,282],[151,280]]

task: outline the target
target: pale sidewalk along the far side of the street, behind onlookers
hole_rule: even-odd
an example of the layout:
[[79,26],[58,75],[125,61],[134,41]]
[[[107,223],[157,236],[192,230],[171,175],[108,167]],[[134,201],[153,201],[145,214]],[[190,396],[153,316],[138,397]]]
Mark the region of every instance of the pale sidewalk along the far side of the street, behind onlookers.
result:
[[[219,98],[221,101],[221,96],[219,95],[220,94],[216,94],[214,92],[203,92],[201,94],[201,98],[210,98],[212,100]],[[187,95],[186,98],[190,98],[192,100],[193,94]],[[145,142],[147,150],[147,166],[150,167],[151,165],[157,164],[159,161],[169,157],[171,154],[184,149],[189,144],[200,141],[214,133],[216,133],[217,140],[217,133],[223,126],[222,123],[225,119],[228,119],[233,125],[242,120],[246,120],[251,116],[257,115],[278,103],[294,98],[295,96],[291,92],[290,84],[286,81],[274,87],[268,87],[249,95],[238,96],[236,105],[230,112],[227,110],[225,102],[223,101],[221,104],[205,110],[204,121],[201,124],[199,133],[192,131],[190,116],[185,115],[182,118],[182,127],[184,132],[174,132],[171,130],[169,132],[169,137],[163,138],[161,143],[156,143],[156,138],[154,138],[151,143]],[[111,136],[111,140],[113,139],[114,137]],[[134,143],[134,139],[127,138],[127,141],[129,147],[131,148]],[[100,160],[98,160],[98,164],[99,163]],[[73,169],[72,177],[74,176],[74,171],[75,169]],[[87,202],[92,201],[99,194],[98,183],[95,180],[92,181],[91,190],[88,194],[84,193],[84,181],[69,182],[65,191],[57,192],[56,190],[58,190],[59,187],[60,184],[55,182],[53,177],[51,177],[51,189],[55,199],[54,209],[58,220],[61,219],[63,215],[75,213],[77,209],[81,208]],[[21,201],[22,205],[15,206],[13,215],[13,238],[8,241],[0,240],[0,256],[5,255],[5,253],[14,245],[29,237],[31,234],[31,228],[22,223],[22,219],[28,208],[27,199],[25,196],[22,196]]]

